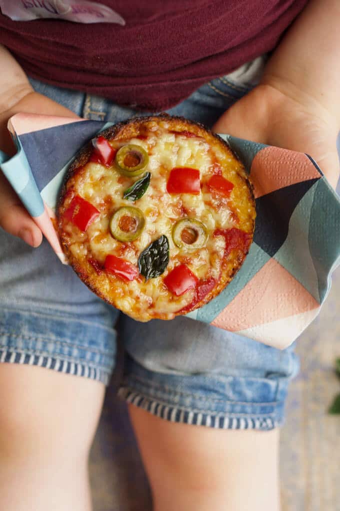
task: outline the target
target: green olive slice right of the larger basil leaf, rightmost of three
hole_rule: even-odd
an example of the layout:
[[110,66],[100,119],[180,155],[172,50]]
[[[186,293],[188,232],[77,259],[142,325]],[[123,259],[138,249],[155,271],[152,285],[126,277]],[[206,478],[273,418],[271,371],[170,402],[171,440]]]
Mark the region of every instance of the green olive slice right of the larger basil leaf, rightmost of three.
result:
[[172,239],[178,248],[193,252],[206,245],[208,230],[196,218],[182,218],[172,228]]

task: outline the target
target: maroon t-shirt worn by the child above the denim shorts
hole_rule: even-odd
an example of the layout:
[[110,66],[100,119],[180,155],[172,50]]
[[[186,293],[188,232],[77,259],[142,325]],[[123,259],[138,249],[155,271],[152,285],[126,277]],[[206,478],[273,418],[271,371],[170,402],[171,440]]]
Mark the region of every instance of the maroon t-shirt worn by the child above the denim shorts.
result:
[[34,78],[162,110],[275,48],[307,0],[100,3],[118,12],[125,25],[12,21],[0,14],[0,43]]

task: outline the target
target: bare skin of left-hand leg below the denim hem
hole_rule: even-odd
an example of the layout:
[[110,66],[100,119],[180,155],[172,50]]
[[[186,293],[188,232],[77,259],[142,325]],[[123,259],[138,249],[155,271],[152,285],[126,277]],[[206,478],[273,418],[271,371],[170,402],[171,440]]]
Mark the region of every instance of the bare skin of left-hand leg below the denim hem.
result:
[[0,509],[89,511],[87,460],[104,385],[0,365]]

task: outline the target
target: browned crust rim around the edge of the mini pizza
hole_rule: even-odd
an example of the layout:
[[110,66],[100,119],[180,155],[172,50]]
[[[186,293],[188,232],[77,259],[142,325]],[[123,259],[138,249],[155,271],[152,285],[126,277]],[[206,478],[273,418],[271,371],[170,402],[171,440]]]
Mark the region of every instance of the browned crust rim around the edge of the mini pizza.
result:
[[[253,195],[252,185],[248,179],[248,176],[245,172],[244,167],[242,166],[239,158],[231,151],[226,142],[222,140],[221,137],[212,133],[211,131],[204,128],[199,123],[194,123],[188,121],[184,118],[180,117],[170,117],[167,114],[161,114],[158,116],[150,116],[150,117],[140,117],[133,118],[128,121],[119,123],[115,126],[108,128],[107,130],[100,133],[103,137],[105,137],[108,141],[129,141],[131,138],[134,138],[139,135],[144,135],[148,133],[150,130],[152,131],[153,127],[156,128],[162,123],[165,122],[168,125],[168,129],[176,130],[176,131],[185,131],[188,130],[192,133],[195,133],[197,136],[204,138],[204,140],[211,145],[219,146],[220,149],[229,154],[234,160],[237,160],[240,164],[240,168],[238,170],[238,174],[240,178],[243,180],[246,185],[246,200],[249,204],[249,208],[252,213],[252,220],[250,221],[249,229],[247,233],[249,235],[249,243],[246,250],[233,250],[229,253],[221,263],[221,272],[219,276],[219,280],[216,283],[215,287],[204,296],[203,299],[196,301],[195,304],[191,308],[184,308],[184,312],[188,313],[189,311],[195,310],[197,308],[202,307],[204,304],[208,303],[211,299],[216,297],[232,280],[233,276],[237,273],[240,267],[243,264],[243,261],[249,251],[250,244],[253,239],[253,231],[255,225],[255,200]],[[65,254],[68,258],[69,263],[72,265],[74,271],[79,275],[81,280],[100,298],[107,301],[107,303],[116,306],[118,308],[119,304],[117,304],[117,300],[115,296],[111,296],[110,293],[103,292],[102,283],[104,280],[108,278],[108,275],[104,271],[98,271],[93,267],[92,264],[89,263],[87,258],[79,260],[74,256],[72,251],[70,250],[70,237],[65,234],[64,230],[64,220],[63,214],[65,212],[65,201],[67,202],[68,196],[75,193],[75,183],[76,180],[79,179],[79,176],[82,175],[84,167],[89,162],[90,156],[92,154],[93,146],[91,142],[89,142],[79,153],[76,154],[75,159],[71,163],[66,178],[63,183],[63,188],[60,194],[59,204],[58,204],[58,227],[59,234],[61,237],[62,245],[65,251]],[[122,283],[119,280],[116,280],[115,277],[110,275],[110,282],[112,286],[122,286]],[[148,320],[151,318],[160,318],[160,319],[172,319],[176,315],[180,315],[183,313],[183,310],[175,311],[169,314],[167,311],[164,313],[157,312],[153,314],[150,311],[149,317],[145,319],[145,317],[141,317],[139,314],[134,313],[132,310],[124,310],[123,312],[129,314],[130,316],[139,319],[139,320]]]

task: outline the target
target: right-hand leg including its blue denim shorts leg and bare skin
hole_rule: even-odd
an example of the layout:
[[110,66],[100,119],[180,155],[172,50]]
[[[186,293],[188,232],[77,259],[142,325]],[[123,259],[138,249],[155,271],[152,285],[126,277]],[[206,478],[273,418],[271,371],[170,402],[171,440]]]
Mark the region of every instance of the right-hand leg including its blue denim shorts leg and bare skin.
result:
[[278,511],[278,429],[294,346],[178,317],[121,322],[119,394],[148,473],[154,511]]

